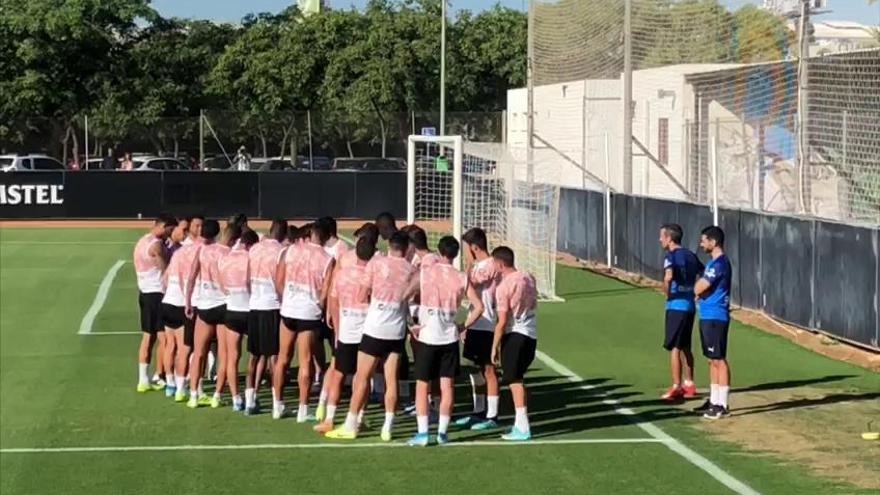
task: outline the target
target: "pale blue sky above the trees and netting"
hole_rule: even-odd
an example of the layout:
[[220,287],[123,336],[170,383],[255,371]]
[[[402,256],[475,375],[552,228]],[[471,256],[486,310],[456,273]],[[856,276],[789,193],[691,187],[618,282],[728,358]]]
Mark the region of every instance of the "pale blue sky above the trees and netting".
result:
[[[167,17],[188,17],[215,21],[237,22],[252,12],[278,12],[295,0],[153,0],[152,4]],[[760,0],[722,0],[731,8],[747,3],[760,4]],[[505,7],[525,9],[526,0],[450,0],[452,10],[480,11],[500,3]],[[822,20],[855,21],[867,25],[880,25],[880,2],[868,6],[868,0],[828,0],[833,13],[820,17]],[[333,8],[363,7],[366,0],[330,0]]]

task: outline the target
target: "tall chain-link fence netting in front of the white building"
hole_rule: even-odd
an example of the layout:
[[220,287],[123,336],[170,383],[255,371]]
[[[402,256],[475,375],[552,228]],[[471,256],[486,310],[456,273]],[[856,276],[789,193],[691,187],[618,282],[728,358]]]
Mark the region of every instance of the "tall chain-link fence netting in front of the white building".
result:
[[818,15],[536,0],[510,145],[564,186],[880,224],[880,31]]

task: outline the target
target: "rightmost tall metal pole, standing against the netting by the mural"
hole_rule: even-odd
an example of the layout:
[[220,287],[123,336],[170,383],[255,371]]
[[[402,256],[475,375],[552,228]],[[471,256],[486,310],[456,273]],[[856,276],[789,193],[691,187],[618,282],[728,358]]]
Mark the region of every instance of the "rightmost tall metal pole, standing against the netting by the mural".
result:
[[797,199],[801,213],[809,211],[810,131],[809,131],[809,79],[807,59],[810,56],[810,0],[801,0],[801,19],[798,29],[798,188]]

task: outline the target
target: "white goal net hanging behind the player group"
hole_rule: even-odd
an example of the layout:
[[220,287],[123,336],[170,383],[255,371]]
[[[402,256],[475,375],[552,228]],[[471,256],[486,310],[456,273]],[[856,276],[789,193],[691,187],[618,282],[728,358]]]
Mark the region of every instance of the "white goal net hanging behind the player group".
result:
[[432,248],[444,235],[461,239],[479,227],[490,250],[513,249],[541,297],[557,299],[558,186],[530,180],[525,162],[500,144],[410,136],[407,155],[407,222],[425,229]]

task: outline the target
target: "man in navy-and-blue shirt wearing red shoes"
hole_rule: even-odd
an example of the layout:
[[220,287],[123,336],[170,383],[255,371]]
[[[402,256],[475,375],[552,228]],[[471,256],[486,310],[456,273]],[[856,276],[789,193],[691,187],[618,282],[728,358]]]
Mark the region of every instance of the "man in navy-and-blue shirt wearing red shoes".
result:
[[[660,246],[666,251],[663,260],[663,289],[666,293],[666,339],[663,347],[669,351],[672,368],[672,386],[661,396],[676,401],[696,397],[694,384],[694,354],[691,352],[691,334],[694,327],[694,284],[703,272],[703,264],[693,251],[681,247],[681,226],[669,223],[660,227]],[[681,380],[682,358],[685,378]]]

